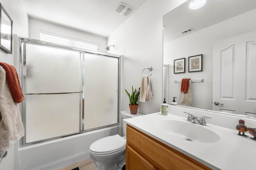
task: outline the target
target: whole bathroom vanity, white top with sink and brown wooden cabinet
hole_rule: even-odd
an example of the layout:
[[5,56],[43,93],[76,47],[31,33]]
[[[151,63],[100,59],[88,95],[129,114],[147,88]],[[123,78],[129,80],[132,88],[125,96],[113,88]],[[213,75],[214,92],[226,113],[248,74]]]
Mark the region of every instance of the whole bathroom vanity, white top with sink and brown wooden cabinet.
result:
[[[169,113],[126,119],[126,169],[254,169],[256,141],[238,135],[239,119],[256,127],[256,119],[189,107],[168,106]],[[207,125],[188,122],[189,112]]]

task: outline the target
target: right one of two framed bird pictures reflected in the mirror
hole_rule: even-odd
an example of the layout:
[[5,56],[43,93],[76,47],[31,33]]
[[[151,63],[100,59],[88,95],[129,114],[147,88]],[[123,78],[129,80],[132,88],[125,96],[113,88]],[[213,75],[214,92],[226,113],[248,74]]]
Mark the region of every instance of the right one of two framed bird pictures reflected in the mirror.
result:
[[203,71],[203,55],[188,57],[188,72]]

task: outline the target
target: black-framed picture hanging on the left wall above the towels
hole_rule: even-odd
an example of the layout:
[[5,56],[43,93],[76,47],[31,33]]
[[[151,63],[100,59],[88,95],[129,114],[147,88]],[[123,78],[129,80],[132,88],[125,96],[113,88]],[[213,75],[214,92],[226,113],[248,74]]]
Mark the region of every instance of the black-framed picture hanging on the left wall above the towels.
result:
[[12,54],[12,19],[0,3],[0,49]]

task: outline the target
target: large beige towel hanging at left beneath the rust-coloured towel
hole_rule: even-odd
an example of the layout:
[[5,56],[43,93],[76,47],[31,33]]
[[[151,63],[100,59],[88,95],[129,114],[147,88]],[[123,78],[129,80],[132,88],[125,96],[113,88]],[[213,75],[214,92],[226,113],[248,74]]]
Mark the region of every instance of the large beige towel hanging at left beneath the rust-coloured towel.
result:
[[6,71],[0,66],[0,151],[8,149],[23,136],[19,104],[12,98]]

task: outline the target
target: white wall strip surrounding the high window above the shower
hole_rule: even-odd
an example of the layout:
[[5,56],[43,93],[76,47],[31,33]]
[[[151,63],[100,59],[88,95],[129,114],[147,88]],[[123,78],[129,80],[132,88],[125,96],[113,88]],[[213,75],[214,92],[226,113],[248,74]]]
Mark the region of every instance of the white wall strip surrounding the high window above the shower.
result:
[[71,37],[74,39],[99,43],[101,45],[101,52],[106,53],[107,39],[99,35],[93,35],[84,31],[74,30],[68,27],[62,27],[54,23],[29,18],[29,38],[40,40],[40,31],[46,31],[57,35]]

